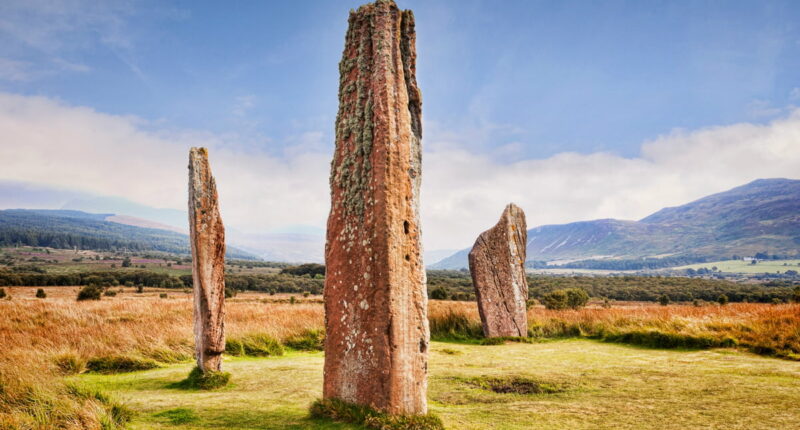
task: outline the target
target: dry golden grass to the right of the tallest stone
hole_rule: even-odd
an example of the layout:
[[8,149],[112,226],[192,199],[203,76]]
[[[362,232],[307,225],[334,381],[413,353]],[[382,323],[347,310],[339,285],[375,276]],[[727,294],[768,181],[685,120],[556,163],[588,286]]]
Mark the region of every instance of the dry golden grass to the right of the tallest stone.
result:
[[[431,326],[454,314],[468,320],[473,331],[480,325],[474,302],[432,302]],[[760,354],[800,359],[800,304],[624,303],[578,310],[538,306],[528,311],[528,326],[537,338],[582,336],[657,347],[740,345]]]

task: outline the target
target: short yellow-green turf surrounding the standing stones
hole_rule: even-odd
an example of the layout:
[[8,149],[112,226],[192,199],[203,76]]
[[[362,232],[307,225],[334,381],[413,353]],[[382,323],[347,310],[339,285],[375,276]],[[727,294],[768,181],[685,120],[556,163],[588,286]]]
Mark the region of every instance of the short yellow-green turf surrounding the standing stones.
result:
[[[800,420],[800,363],[728,350],[664,351],[560,340],[496,346],[434,342],[431,410],[452,429],[791,428]],[[313,421],[322,353],[225,362],[216,392],[170,384],[190,365],[78,379],[137,411],[132,429],[359,428]],[[481,378],[524,378],[554,393],[495,393]]]

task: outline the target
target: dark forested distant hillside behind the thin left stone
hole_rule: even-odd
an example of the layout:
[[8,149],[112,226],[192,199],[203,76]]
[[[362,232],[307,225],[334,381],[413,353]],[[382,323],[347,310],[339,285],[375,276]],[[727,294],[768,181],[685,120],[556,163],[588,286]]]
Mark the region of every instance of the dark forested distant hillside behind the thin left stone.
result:
[[[106,221],[113,216],[71,210],[0,210],[0,246],[189,253],[185,234]],[[228,247],[227,256],[254,258],[232,247]]]

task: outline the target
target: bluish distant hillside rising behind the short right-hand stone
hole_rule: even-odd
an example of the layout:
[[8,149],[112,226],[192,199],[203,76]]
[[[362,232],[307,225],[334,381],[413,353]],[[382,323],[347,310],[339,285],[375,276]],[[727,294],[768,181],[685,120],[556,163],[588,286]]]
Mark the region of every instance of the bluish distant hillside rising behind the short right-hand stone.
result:
[[[488,227],[488,226],[487,226]],[[476,232],[476,237],[480,232]],[[640,221],[603,219],[528,230],[528,261],[800,254],[800,181],[759,179]],[[469,249],[434,264],[467,267]]]

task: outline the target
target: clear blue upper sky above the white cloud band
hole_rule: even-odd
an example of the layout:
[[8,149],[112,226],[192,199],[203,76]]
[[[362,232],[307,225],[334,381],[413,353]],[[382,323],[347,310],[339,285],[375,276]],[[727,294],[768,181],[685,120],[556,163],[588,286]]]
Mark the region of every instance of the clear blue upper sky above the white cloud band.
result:
[[[1,56],[41,76],[0,89],[264,150],[307,130],[332,140],[336,64],[360,2],[109,3],[7,16],[23,29],[0,31]],[[674,128],[765,121],[800,87],[794,1],[399,4],[417,16],[426,121],[480,130],[478,151],[631,156]]]

